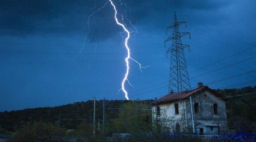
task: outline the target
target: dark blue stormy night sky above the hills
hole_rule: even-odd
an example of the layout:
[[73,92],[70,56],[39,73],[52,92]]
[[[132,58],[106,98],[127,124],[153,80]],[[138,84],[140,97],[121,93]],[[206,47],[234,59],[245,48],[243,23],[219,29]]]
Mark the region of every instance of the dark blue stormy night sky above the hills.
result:
[[[0,0],[0,111],[77,101],[124,100],[125,33],[107,0]],[[126,85],[132,100],[168,92],[166,28],[187,21],[184,36],[192,88],[256,85],[255,0],[113,1],[129,31],[132,58]],[[90,14],[93,14],[90,16]],[[121,17],[119,15],[119,17]],[[88,21],[89,20],[89,21]]]

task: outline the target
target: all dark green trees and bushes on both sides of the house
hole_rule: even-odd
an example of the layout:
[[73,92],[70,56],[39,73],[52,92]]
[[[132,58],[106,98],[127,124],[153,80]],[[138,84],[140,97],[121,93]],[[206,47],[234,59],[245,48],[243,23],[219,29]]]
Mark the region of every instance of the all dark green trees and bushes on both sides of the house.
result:
[[[256,132],[256,87],[216,91],[227,98],[230,129]],[[151,101],[106,100],[103,126],[103,101],[97,100],[95,136],[92,133],[93,100],[53,108],[0,112],[0,133],[12,134],[10,141],[60,141],[60,138],[61,141],[103,141],[113,133],[131,134],[127,141],[203,141],[196,136],[170,137],[160,131],[161,125],[152,127]]]

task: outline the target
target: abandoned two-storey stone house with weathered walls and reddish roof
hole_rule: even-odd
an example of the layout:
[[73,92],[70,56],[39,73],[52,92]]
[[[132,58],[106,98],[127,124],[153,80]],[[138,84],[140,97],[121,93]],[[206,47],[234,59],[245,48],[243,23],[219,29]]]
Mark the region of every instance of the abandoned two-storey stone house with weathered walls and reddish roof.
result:
[[227,132],[226,99],[203,83],[191,91],[170,93],[151,103],[157,121],[173,133],[218,135]]

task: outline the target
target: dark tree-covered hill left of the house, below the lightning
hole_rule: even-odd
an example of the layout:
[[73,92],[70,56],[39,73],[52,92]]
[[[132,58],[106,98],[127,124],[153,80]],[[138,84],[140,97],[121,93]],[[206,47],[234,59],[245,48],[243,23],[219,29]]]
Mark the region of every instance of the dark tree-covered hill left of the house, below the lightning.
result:
[[[129,100],[150,103],[152,100]],[[106,119],[116,119],[118,109],[127,100],[105,100]],[[96,100],[96,119],[102,120],[103,100]],[[56,107],[23,109],[19,111],[0,112],[0,129],[15,131],[22,125],[32,122],[50,122],[59,127],[75,128],[81,122],[93,122],[94,100],[77,102]]]

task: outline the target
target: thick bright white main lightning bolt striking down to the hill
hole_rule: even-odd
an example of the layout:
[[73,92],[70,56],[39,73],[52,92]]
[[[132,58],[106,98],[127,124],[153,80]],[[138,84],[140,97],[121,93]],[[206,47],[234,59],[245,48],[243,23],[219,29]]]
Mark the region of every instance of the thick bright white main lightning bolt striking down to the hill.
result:
[[131,58],[131,53],[129,51],[129,46],[128,46],[128,41],[129,41],[129,31],[128,29],[124,26],[124,24],[120,23],[118,21],[118,18],[117,18],[117,10],[116,10],[116,5],[113,4],[113,1],[112,0],[109,0],[110,1],[110,4],[112,5],[113,9],[115,10],[115,20],[116,20],[116,24],[117,25],[120,25],[121,28],[124,29],[124,31],[127,33],[127,37],[125,38],[125,42],[124,42],[124,45],[125,45],[125,48],[127,49],[127,57],[125,58],[125,63],[127,65],[127,71],[125,72],[124,74],[124,79],[122,80],[121,82],[121,90],[124,92],[124,97],[129,100],[129,97],[128,97],[128,92],[127,90],[125,89],[124,85],[125,85],[125,82],[127,82],[128,80],[128,75],[129,75],[129,59]]

